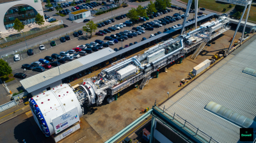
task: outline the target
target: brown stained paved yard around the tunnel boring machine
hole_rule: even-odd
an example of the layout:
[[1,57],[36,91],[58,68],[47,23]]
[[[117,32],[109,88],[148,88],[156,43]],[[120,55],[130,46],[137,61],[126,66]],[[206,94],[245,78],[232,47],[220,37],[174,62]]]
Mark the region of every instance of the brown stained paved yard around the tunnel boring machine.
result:
[[[191,54],[188,54],[182,64],[175,63],[168,66],[167,73],[161,70],[159,78],[151,79],[148,86],[145,86],[143,90],[134,89],[131,86],[122,91],[115,102],[110,104],[104,102],[100,107],[90,107],[89,109],[85,107],[83,119],[88,125],[84,127],[83,132],[77,133],[74,138],[71,136],[67,142],[75,142],[79,137],[84,137],[84,135],[86,135],[84,142],[92,142],[93,139],[93,142],[108,140],[125,126],[132,123],[132,121],[138,119],[141,116],[141,110],[146,107],[151,108],[155,100],[159,103],[168,98],[167,91],[172,94],[177,89],[180,89],[180,79],[187,77],[188,72],[205,59],[209,59],[219,50],[227,48],[229,45],[228,40],[233,33],[234,31],[232,30],[225,32],[223,36],[215,40],[216,44],[212,44],[211,47],[207,48],[206,52],[202,52],[196,59],[191,59],[189,57]],[[237,35],[241,36],[241,33],[237,33]],[[77,81],[79,80],[81,79]],[[35,138],[40,136],[38,128],[33,123],[33,118],[26,117],[26,114],[0,124],[0,128],[6,129],[1,132],[1,142],[20,142],[22,139],[26,139],[27,142],[35,142]],[[36,137],[32,136],[31,131]],[[39,138],[42,138],[42,136]],[[51,142],[51,140],[46,140]]]

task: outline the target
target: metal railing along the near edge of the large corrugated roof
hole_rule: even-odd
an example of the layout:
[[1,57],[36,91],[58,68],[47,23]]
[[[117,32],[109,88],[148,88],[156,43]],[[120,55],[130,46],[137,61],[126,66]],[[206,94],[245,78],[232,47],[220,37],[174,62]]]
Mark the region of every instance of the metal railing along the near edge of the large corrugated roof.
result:
[[[157,103],[156,103],[156,105],[157,105],[157,107],[162,109],[163,112],[166,112],[168,115],[170,115],[173,119],[175,119],[176,121],[179,121],[180,124],[183,124],[183,126],[181,126],[181,127],[184,130],[187,130],[189,133],[191,133],[191,131],[194,132],[195,134],[192,133],[194,137],[196,137],[197,135],[200,136],[200,137],[196,137],[196,139],[198,139],[198,140],[204,139],[204,140],[202,140],[202,142],[204,142],[206,140],[209,143],[211,143],[211,142],[212,143],[218,143],[218,141],[212,139],[212,137],[207,135],[207,133],[203,132],[199,128],[196,128],[196,126],[189,123],[186,119],[183,119],[178,114],[175,114],[175,112],[172,113],[172,112],[170,112],[170,110],[166,110],[165,107],[163,107],[163,105],[159,105]],[[171,119],[171,120],[173,120],[173,119]],[[188,128],[190,131],[188,129],[184,128],[184,127]]]

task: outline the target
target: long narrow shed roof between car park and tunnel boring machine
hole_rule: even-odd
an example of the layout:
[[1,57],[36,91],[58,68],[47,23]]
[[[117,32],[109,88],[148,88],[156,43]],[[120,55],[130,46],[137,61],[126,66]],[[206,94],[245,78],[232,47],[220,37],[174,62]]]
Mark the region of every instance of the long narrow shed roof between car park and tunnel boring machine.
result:
[[[216,13],[210,13],[209,15],[205,15],[204,17],[199,18],[198,21],[203,20],[203,19],[207,19],[208,17],[211,17],[212,15],[215,15],[215,14]],[[195,21],[188,22],[188,23],[185,24],[185,26],[189,26],[189,25],[191,25],[193,23],[195,23]],[[67,63],[66,64],[62,64],[61,66],[63,66],[63,67],[65,66],[66,70],[68,70],[68,71],[61,72],[61,75],[58,74],[58,72],[57,72],[58,71],[58,67],[56,67],[56,68],[54,68],[52,70],[48,70],[48,71],[52,71],[52,72],[39,73],[37,75],[34,75],[33,78],[29,77],[28,79],[21,80],[20,83],[22,84],[24,89],[26,89],[26,91],[28,91],[28,93],[31,93],[33,91],[36,91],[37,89],[40,89],[40,88],[42,88],[44,86],[52,84],[53,82],[56,82],[56,81],[61,80],[61,79],[64,79],[65,77],[68,77],[70,75],[74,75],[77,72],[81,72],[82,70],[85,70],[86,68],[90,68],[90,67],[94,66],[95,64],[102,63],[103,61],[106,61],[108,59],[116,57],[116,56],[118,56],[120,54],[124,54],[125,52],[128,52],[129,50],[136,49],[137,47],[140,47],[141,45],[144,45],[145,43],[149,43],[150,41],[157,40],[158,38],[161,38],[161,37],[165,36],[166,34],[173,33],[174,31],[179,30],[180,27],[181,26],[179,26],[179,27],[177,27],[175,29],[171,29],[170,31],[166,31],[164,33],[158,34],[157,36],[154,36],[152,38],[148,38],[147,40],[144,40],[144,41],[141,41],[139,43],[136,43],[136,44],[134,44],[134,45],[132,45],[130,47],[127,47],[125,49],[118,50],[117,52],[114,52],[113,54],[109,53],[108,50],[106,50],[106,49],[102,49],[102,50],[99,50],[98,52],[95,52],[95,55],[97,55],[97,56],[95,56],[94,53],[93,53],[93,54],[90,54],[88,56],[84,56],[82,58],[79,58],[79,59],[75,60],[75,61],[79,61],[80,63],[82,63],[83,66],[79,66],[79,67],[71,68],[70,69],[70,67],[72,67],[72,65],[70,67],[68,67],[68,66],[65,66],[65,65],[67,65]],[[108,53],[106,53],[106,55],[105,55],[104,51],[107,51]],[[98,54],[102,55],[102,56],[99,57]],[[88,58],[88,57],[90,57],[90,58]],[[75,61],[72,61],[72,62],[75,62]],[[72,62],[68,62],[68,63],[72,63]],[[55,75],[51,76],[51,77],[48,76],[46,78],[44,77],[44,75],[52,75],[52,74],[53,75],[55,74]],[[38,80],[38,81],[30,82],[29,81],[30,78],[33,79],[33,80]]]

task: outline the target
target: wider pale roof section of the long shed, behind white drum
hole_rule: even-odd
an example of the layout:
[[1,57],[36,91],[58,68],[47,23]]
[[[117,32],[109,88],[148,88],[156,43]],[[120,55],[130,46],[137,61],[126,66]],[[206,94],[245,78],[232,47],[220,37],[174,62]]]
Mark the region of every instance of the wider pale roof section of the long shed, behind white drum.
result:
[[41,87],[47,86],[49,84],[52,84],[53,82],[64,79],[65,77],[81,72],[86,68],[94,66],[95,64],[99,64],[102,62],[99,59],[101,59],[102,57],[107,57],[109,54],[112,54],[114,52],[115,50],[112,50],[108,47],[106,49],[99,50],[98,52],[94,52],[93,54],[89,54],[74,61],[61,64],[59,66],[60,73],[59,68],[55,67],[27,79],[20,80],[20,83],[22,84],[24,89],[28,91],[28,93],[31,93],[37,89],[40,89]]

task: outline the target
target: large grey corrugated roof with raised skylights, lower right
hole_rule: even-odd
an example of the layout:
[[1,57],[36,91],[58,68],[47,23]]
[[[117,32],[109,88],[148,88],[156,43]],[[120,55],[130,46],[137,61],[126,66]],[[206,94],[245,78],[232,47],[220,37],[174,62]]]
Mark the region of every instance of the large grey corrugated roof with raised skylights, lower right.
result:
[[[170,115],[175,112],[175,115],[186,119],[217,142],[241,142],[239,138],[242,126],[237,124],[241,120],[239,117],[235,119],[236,123],[234,119],[232,121],[233,115],[228,119],[216,114],[218,110],[212,112],[205,107],[211,102],[218,103],[231,110],[234,116],[240,114],[241,117],[252,119],[254,122],[250,124],[250,128],[256,128],[256,77],[243,73],[244,68],[256,69],[255,45],[256,40],[247,47],[244,46],[243,50],[240,47],[234,51],[164,102],[161,108],[165,106],[166,113]],[[219,109],[220,112],[222,109]]]

